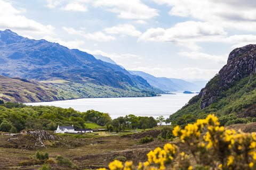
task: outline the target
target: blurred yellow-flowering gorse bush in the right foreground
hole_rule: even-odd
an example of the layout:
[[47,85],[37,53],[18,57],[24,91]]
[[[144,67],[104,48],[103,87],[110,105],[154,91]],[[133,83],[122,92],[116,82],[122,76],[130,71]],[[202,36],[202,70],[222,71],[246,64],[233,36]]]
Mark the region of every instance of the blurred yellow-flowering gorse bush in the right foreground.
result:
[[[173,135],[180,137],[191,156],[179,153],[177,146],[167,143],[163,149],[158,147],[150,151],[147,154],[148,161],[140,162],[138,170],[162,170],[167,166],[179,170],[256,169],[256,133],[236,132],[220,127],[219,124],[217,117],[208,115],[204,120],[188,124],[184,129],[176,126]],[[203,128],[208,131],[201,136]],[[192,157],[197,164],[194,168],[190,163]],[[173,164],[174,160],[177,164]],[[110,170],[121,170],[123,167],[124,170],[132,170],[133,163],[126,162],[123,166],[122,162],[115,160],[109,164]]]

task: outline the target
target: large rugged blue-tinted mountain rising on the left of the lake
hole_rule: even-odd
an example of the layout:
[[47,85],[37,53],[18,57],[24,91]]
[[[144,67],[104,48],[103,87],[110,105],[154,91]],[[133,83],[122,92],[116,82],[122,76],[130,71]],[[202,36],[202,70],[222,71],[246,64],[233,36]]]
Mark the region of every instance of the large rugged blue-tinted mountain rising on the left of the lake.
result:
[[97,60],[91,54],[58,43],[28,39],[11,30],[0,31],[0,74],[59,85],[92,83],[111,87],[109,89],[159,91],[145,79],[116,64]]

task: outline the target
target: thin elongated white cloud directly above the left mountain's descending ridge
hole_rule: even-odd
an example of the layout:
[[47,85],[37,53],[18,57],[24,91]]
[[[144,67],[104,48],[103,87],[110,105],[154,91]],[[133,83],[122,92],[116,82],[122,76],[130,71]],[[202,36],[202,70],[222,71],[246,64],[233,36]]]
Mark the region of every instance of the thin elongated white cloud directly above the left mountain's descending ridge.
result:
[[83,36],[87,39],[92,39],[92,40],[97,40],[97,41],[110,41],[110,40],[116,39],[116,37],[113,37],[113,36],[106,36],[105,33],[101,32],[101,31],[85,34],[84,31],[77,31],[73,28],[67,28],[67,27],[62,27],[62,28],[71,35],[79,35],[79,36]]

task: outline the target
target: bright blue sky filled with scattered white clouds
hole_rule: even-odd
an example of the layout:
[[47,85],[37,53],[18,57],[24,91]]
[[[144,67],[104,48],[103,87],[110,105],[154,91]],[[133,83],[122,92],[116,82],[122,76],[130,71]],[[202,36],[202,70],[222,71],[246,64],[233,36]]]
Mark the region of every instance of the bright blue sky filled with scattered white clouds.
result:
[[252,0],[0,0],[0,30],[110,57],[155,77],[211,79],[256,44]]

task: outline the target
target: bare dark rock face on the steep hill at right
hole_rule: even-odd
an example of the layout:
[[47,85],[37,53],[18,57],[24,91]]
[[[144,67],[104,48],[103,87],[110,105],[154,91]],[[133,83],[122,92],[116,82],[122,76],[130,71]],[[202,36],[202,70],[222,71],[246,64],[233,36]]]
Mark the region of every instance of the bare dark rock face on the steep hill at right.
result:
[[210,106],[218,98],[220,89],[225,90],[233,86],[248,75],[256,72],[256,45],[247,45],[234,49],[228,57],[228,62],[218,75],[206,84],[197,98],[191,100],[194,104],[201,99],[200,108]]

